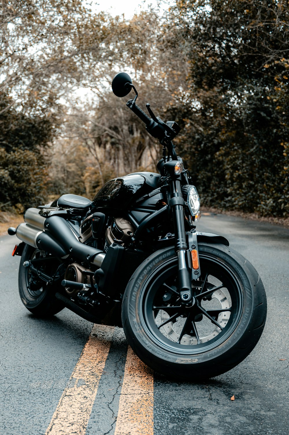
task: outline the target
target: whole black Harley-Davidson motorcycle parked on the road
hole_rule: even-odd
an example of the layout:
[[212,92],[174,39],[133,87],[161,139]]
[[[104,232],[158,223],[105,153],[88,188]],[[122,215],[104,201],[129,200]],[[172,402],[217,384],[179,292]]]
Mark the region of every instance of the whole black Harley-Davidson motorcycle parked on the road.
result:
[[114,94],[163,145],[158,173],[108,181],[93,201],[64,194],[29,208],[9,228],[23,241],[20,298],[37,316],[64,307],[105,325],[122,326],[147,365],[198,380],[224,373],[255,347],[266,319],[266,294],[252,264],[226,238],[196,231],[199,196],[177,157],[176,122],[136,105],[130,76],[117,74]]

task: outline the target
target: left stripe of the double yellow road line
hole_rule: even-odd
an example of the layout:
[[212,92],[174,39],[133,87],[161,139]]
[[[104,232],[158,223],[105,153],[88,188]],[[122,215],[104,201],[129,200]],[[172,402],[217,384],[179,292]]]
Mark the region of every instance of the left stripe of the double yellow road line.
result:
[[85,434],[113,331],[114,327],[93,325],[70,378],[75,384],[63,391],[45,435]]

